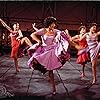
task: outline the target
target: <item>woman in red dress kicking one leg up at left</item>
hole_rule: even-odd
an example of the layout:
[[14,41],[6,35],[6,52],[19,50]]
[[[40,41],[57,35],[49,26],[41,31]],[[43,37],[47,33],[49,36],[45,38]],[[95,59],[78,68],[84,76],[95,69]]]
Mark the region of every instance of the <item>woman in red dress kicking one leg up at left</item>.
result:
[[23,37],[21,30],[19,29],[19,23],[15,22],[12,24],[12,27],[9,27],[2,19],[0,19],[2,25],[7,28],[10,32],[11,37],[11,57],[14,59],[16,73],[19,72],[18,66],[18,50],[20,46],[25,42],[28,46],[32,46],[32,43],[27,37]]

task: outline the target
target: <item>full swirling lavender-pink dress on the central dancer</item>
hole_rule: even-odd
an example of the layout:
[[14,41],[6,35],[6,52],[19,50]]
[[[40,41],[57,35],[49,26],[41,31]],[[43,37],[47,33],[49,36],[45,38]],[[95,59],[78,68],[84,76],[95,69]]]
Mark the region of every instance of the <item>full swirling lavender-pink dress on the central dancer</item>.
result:
[[[47,71],[62,67],[64,64],[62,62],[66,62],[70,57],[67,36],[57,29],[54,30],[54,35],[50,36],[44,35],[44,29],[38,30],[37,33],[41,35],[42,45],[36,43],[29,48],[31,58],[28,60],[28,65],[34,69],[40,65]],[[63,57],[65,58],[62,59]],[[37,62],[37,64],[34,62]]]

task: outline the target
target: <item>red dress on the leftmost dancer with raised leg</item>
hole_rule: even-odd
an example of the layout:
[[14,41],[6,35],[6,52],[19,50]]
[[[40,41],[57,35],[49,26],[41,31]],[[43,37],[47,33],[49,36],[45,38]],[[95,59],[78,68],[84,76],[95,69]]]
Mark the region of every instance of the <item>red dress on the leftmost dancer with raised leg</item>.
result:
[[15,56],[18,55],[18,50],[19,50],[20,45],[21,45],[21,41],[20,40],[16,40],[17,36],[18,36],[17,32],[10,33],[11,47],[12,47],[11,57],[15,57]]

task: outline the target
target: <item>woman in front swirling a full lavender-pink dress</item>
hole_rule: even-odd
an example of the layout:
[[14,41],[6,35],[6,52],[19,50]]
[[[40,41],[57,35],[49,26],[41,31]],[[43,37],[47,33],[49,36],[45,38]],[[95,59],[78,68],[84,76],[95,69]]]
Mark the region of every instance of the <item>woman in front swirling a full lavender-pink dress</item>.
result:
[[[65,61],[69,59],[68,37],[64,35],[64,32],[54,29],[55,26],[56,18],[47,17],[44,20],[44,28],[31,34],[31,37],[37,43],[29,48],[31,58],[28,61],[31,68],[38,69],[42,73],[49,72],[53,94],[56,93],[53,70],[61,68]],[[41,40],[37,35],[41,36]],[[63,57],[65,58],[62,59]]]

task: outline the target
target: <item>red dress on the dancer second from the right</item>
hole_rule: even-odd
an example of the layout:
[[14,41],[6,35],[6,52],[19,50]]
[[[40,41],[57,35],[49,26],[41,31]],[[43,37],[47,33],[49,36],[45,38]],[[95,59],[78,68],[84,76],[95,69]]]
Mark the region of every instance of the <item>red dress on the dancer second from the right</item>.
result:
[[89,56],[88,56],[88,53],[86,51],[86,47],[87,47],[86,39],[83,39],[83,40],[79,41],[79,45],[82,46],[83,49],[78,51],[78,58],[77,58],[76,63],[86,64],[89,61]]

